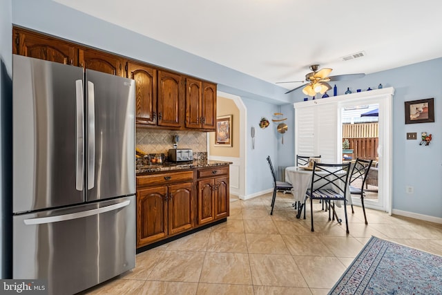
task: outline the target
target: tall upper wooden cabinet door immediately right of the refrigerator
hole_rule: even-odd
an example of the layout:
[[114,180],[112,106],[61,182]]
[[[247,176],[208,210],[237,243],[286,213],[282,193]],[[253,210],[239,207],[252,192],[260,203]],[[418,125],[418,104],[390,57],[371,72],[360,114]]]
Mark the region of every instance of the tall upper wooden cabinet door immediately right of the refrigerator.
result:
[[137,124],[156,125],[157,70],[128,62],[128,78],[135,80],[135,120]]

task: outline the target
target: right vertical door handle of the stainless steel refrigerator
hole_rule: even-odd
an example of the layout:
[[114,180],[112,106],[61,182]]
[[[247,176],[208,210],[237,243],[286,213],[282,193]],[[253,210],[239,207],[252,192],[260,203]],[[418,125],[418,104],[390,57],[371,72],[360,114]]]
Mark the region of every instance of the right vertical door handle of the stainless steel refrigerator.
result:
[[95,187],[95,97],[94,84],[88,81],[88,189]]

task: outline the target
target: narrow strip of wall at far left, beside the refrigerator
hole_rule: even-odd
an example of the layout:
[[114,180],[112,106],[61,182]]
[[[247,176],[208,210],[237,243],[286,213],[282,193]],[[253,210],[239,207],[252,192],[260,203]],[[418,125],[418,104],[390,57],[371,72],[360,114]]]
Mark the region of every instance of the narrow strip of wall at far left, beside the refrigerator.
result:
[[12,0],[0,1],[0,278],[11,278]]

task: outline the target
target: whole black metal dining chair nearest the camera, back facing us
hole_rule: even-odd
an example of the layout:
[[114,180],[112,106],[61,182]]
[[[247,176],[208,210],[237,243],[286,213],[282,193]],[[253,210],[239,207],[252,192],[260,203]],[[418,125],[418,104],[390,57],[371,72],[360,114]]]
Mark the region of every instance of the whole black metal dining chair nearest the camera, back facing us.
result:
[[[347,234],[348,218],[347,218],[347,187],[349,181],[350,163],[346,164],[323,164],[314,162],[313,173],[311,175],[311,187],[307,189],[306,198],[310,199],[310,215],[311,215],[311,231],[313,226],[313,200],[322,200],[329,206],[329,220],[332,220],[331,211],[337,218],[334,210],[334,201],[342,201],[345,214],[345,226]],[[333,203],[332,203],[333,202]],[[305,203],[304,203],[305,207]],[[305,212],[305,211],[304,211]]]

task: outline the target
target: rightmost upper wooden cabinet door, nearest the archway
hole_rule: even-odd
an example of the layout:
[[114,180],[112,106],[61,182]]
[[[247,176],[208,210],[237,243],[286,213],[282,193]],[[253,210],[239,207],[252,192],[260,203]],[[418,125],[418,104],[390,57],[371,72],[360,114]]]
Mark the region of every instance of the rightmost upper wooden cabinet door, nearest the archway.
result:
[[215,131],[216,84],[202,83],[202,129]]

